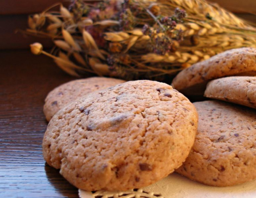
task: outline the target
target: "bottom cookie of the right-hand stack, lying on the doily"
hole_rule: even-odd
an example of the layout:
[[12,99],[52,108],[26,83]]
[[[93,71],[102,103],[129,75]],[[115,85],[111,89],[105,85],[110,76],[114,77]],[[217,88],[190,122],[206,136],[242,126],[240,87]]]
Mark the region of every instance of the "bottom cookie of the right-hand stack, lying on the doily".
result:
[[256,111],[222,101],[193,104],[198,111],[196,140],[176,172],[211,186],[256,179]]

